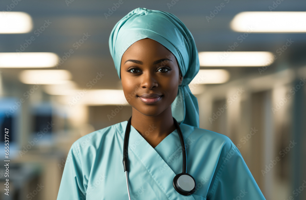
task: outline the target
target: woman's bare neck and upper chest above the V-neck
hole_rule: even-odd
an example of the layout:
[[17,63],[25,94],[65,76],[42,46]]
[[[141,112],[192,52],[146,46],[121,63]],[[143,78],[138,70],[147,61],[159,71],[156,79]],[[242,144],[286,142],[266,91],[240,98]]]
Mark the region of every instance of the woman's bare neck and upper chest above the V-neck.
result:
[[176,129],[171,106],[156,116],[147,116],[132,108],[131,125],[153,148]]

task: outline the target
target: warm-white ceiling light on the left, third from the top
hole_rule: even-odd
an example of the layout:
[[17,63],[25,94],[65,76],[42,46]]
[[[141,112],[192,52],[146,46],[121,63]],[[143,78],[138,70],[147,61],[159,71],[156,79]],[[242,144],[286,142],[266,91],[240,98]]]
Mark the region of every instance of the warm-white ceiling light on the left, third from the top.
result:
[[19,79],[25,84],[64,84],[71,79],[71,74],[64,69],[23,70]]

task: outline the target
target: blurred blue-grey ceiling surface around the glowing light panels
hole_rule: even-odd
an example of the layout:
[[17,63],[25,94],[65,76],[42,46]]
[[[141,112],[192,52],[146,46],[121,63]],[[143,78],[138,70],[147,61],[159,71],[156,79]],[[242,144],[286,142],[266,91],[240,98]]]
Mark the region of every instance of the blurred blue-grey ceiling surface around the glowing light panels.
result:
[[[69,4],[67,4],[69,2]],[[121,89],[119,77],[115,71],[112,57],[110,56],[108,39],[114,25],[129,13],[132,9],[144,7],[147,9],[163,10],[176,15],[191,31],[197,45],[198,51],[226,51],[229,45],[238,42],[235,51],[271,51],[276,50],[292,39],[294,43],[282,57],[269,67],[267,73],[278,71],[282,68],[290,68],[305,63],[306,34],[297,33],[251,33],[243,42],[237,40],[241,34],[230,29],[229,24],[233,17],[242,11],[269,11],[275,1],[134,1],[122,0],[122,4],[114,13],[106,19],[104,13],[118,1],[80,1],[80,0],[57,0],[57,1],[20,1],[12,11],[23,11],[31,15],[33,19],[33,30],[27,34],[1,34],[0,52],[16,52],[25,43],[25,40],[34,36],[35,40],[24,50],[24,52],[54,52],[59,57],[65,56],[70,49],[74,53],[58,67],[58,69],[69,70],[72,80],[79,88],[95,78],[97,72],[105,76],[99,80],[93,89]],[[174,4],[172,5],[171,2]],[[276,11],[305,11],[306,1],[278,1],[281,2]],[[1,8],[7,8],[11,1],[1,1]],[[224,7],[207,21],[206,16],[211,11],[224,3]],[[118,4],[117,4],[118,5]],[[168,7],[171,5],[171,7]],[[271,7],[270,7],[271,8]],[[37,35],[35,30],[41,27],[45,20],[50,25],[42,33]],[[306,22],[305,22],[306,25]],[[35,34],[36,33],[36,34]],[[83,34],[90,36],[76,49],[74,45]],[[74,45],[74,46],[73,46]],[[43,68],[42,68],[43,69]],[[45,68],[46,69],[46,68]],[[56,68],[48,68],[56,69]],[[201,69],[217,69],[214,67],[201,67]],[[258,74],[258,67],[218,67],[230,72],[231,80],[249,74]],[[3,68],[4,83],[18,80],[18,74],[23,69]],[[15,83],[16,83],[15,82]]]

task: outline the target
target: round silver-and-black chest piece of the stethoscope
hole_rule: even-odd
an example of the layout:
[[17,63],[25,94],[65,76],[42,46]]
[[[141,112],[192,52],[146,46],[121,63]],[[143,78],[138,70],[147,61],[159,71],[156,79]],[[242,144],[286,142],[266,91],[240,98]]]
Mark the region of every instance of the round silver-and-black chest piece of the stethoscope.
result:
[[190,195],[196,190],[196,180],[188,173],[180,173],[174,176],[173,187],[182,195]]

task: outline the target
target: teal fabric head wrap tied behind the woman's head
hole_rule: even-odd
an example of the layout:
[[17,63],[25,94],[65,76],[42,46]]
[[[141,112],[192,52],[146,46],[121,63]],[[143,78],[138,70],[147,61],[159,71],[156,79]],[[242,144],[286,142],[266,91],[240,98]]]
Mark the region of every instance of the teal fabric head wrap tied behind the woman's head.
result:
[[136,8],[117,22],[109,38],[110,54],[120,76],[121,57],[138,40],[153,39],[174,54],[183,76],[177,97],[171,104],[178,123],[199,128],[199,106],[188,84],[200,70],[198,50],[188,28],[174,14]]

